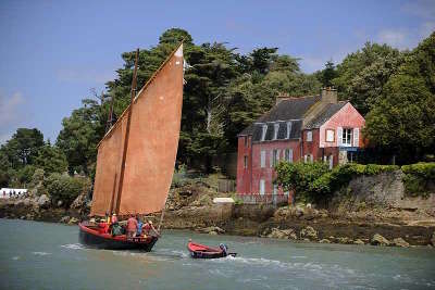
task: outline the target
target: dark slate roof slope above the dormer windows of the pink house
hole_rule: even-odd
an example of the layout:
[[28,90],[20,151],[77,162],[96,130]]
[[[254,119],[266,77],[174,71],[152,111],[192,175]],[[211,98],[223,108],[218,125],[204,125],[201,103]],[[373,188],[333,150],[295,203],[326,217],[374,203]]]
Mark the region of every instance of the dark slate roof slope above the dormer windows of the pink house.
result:
[[[281,101],[277,105],[273,106],[271,111],[259,117],[256,123],[268,123],[277,121],[301,119],[307,111],[318,101],[321,96],[309,96],[301,98],[290,98]],[[253,135],[256,131],[256,124],[246,127],[239,135]],[[272,128],[273,129],[273,128]],[[281,127],[279,127],[281,129]],[[300,128],[299,128],[300,129]],[[269,134],[269,128],[268,128]],[[268,136],[268,135],[266,135]],[[256,138],[253,138],[256,139]]]

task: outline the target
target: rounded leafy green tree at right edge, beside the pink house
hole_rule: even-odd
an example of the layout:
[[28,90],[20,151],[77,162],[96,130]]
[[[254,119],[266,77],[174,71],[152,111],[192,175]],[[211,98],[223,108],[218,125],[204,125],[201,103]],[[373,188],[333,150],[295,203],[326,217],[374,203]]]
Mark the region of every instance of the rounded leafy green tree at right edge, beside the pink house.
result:
[[435,148],[435,96],[422,77],[398,74],[385,85],[383,99],[366,116],[365,136],[388,148],[401,163],[418,161]]

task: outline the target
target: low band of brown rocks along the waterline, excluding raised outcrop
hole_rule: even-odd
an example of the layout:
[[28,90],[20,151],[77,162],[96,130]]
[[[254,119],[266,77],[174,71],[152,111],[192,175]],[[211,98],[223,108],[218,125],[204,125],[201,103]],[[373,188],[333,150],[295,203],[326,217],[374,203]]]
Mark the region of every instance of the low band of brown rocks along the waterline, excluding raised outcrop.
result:
[[[391,213],[394,215],[395,213]],[[0,202],[0,218],[76,225],[87,218],[84,209],[61,209],[24,202]],[[147,218],[159,222],[160,215]],[[419,222],[430,222],[423,225]],[[266,205],[183,206],[165,212],[163,229],[341,244],[427,247],[435,244],[435,220],[361,214],[351,216],[326,210]]]

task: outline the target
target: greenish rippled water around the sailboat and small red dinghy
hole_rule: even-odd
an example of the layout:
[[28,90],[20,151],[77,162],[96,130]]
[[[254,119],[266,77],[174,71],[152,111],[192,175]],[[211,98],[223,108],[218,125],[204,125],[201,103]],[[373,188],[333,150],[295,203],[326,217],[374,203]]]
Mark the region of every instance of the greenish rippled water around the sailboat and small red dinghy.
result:
[[[164,231],[150,253],[80,245],[78,228],[0,219],[0,289],[435,289],[435,250]],[[192,260],[186,243],[238,256]]]

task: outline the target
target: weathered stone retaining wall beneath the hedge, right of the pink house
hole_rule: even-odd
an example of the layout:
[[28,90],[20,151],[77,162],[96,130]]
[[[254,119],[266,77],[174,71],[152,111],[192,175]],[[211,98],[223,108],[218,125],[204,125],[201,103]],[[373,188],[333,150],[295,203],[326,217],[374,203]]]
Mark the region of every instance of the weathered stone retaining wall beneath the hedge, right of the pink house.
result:
[[402,181],[403,173],[382,173],[374,176],[359,176],[353,178],[348,187],[335,194],[333,205],[344,199],[358,205],[377,205],[403,210],[435,210],[435,191],[427,199],[407,197]]

